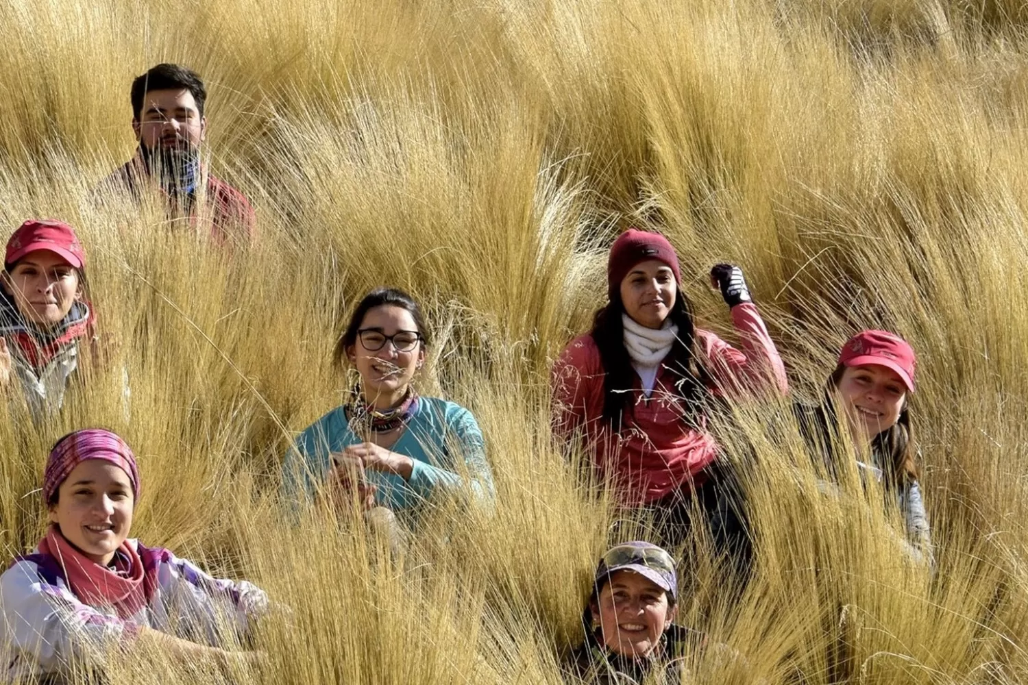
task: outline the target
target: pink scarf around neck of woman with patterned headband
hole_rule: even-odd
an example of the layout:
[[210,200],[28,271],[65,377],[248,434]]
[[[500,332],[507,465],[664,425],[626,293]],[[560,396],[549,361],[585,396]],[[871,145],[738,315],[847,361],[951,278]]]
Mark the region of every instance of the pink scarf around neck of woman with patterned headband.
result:
[[139,554],[127,542],[121,543],[115,562],[124,575],[101,566],[76,549],[57,526],[50,526],[39,543],[39,551],[58,561],[64,569],[65,581],[82,602],[95,607],[113,607],[122,619],[145,608],[156,588],[155,574],[145,572]]

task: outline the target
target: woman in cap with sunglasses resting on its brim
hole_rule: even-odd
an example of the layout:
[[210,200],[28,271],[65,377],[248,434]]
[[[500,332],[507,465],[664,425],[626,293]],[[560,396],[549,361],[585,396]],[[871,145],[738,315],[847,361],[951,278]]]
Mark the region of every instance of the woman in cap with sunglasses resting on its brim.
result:
[[585,643],[571,655],[576,682],[682,682],[680,657],[702,636],[672,622],[674,567],[667,551],[642,541],[616,545],[600,558],[582,616]]

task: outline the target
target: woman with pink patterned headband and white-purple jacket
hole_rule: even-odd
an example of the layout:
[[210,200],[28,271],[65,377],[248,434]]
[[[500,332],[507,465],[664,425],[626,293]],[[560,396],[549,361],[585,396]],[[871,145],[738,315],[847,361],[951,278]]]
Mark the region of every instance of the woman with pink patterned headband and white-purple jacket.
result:
[[218,645],[226,629],[245,634],[267,597],[130,539],[139,493],[136,457],[113,432],[77,430],[53,446],[42,488],[49,530],[0,575],[0,639],[11,650],[0,680],[103,667],[114,647],[223,664],[259,656]]

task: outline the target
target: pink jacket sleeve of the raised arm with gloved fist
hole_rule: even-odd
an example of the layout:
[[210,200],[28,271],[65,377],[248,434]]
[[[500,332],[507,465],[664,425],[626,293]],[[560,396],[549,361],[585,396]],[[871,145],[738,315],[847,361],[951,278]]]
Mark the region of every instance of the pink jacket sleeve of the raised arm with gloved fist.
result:
[[788,392],[785,367],[757,306],[745,303],[732,307],[732,324],[739,334],[741,350],[709,331],[696,332],[697,351],[705,356],[707,371],[719,389],[731,396]]

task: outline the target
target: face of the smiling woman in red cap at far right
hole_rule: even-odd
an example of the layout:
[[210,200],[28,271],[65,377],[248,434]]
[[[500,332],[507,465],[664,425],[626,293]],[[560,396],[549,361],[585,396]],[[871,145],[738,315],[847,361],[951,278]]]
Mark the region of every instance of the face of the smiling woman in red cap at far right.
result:
[[853,436],[860,442],[891,428],[907,402],[907,386],[900,374],[872,364],[847,367],[838,391]]

